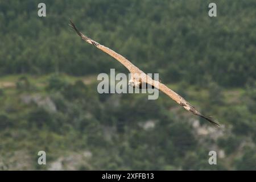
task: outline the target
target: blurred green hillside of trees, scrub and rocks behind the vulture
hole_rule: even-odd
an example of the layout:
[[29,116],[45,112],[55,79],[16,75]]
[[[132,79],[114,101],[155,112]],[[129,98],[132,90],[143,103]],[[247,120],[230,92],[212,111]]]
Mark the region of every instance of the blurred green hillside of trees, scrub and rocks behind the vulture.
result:
[[[0,169],[256,170],[256,1],[0,1]],[[98,94],[128,73],[68,26],[159,73],[165,94]],[[47,165],[38,164],[38,151]],[[209,165],[208,152],[217,152]]]

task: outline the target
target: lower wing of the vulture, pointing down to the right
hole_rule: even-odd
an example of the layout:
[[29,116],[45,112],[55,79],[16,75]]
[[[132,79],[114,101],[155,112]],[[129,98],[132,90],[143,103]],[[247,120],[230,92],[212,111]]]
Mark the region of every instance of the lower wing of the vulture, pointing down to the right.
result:
[[211,117],[201,114],[199,111],[195,109],[194,106],[189,104],[188,101],[186,101],[183,97],[181,97],[179,94],[177,94],[176,92],[174,92],[173,90],[168,88],[166,85],[162,84],[161,82],[152,80],[148,76],[147,76],[147,79],[144,81],[146,81],[148,84],[153,85],[155,88],[167,94],[167,96],[171,97],[172,100],[177,102],[177,104],[183,106],[186,110],[190,111],[191,113],[207,119],[209,122],[213,123],[214,126],[217,126],[217,127],[220,126],[220,124],[217,121],[214,121]]

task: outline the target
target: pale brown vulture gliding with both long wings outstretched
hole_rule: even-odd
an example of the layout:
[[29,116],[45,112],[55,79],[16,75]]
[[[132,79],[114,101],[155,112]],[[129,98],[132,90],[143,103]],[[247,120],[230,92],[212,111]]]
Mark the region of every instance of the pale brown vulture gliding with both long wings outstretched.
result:
[[218,122],[213,121],[212,118],[199,113],[199,111],[197,111],[194,106],[189,104],[189,102],[187,102],[183,97],[181,97],[179,94],[177,94],[176,92],[174,92],[173,90],[168,88],[166,85],[162,84],[159,81],[153,80],[150,76],[147,76],[146,73],[141,71],[141,69],[136,67],[133,63],[131,63],[129,60],[127,60],[122,55],[119,55],[117,52],[114,52],[112,49],[102,46],[100,43],[97,43],[96,41],[94,41],[94,40],[88,38],[87,36],[85,36],[84,34],[82,34],[80,31],[77,30],[75,24],[71,20],[70,20],[70,23],[71,24],[69,24],[69,25],[77,32],[77,34],[79,36],[81,36],[81,38],[83,40],[85,40],[89,44],[93,44],[98,49],[101,49],[101,51],[104,51],[104,52],[108,53],[108,55],[114,57],[114,59],[118,60],[130,71],[131,75],[139,75],[139,78],[137,76],[133,76],[134,79],[139,80],[140,83],[144,82],[144,83],[154,86],[156,89],[159,89],[162,92],[164,92],[165,94],[167,94],[167,96],[171,97],[172,100],[176,101],[177,104],[183,106],[186,110],[191,111],[191,113],[193,113],[195,115],[199,115],[200,117],[207,119],[209,122],[213,123],[214,126],[220,126],[218,124]]

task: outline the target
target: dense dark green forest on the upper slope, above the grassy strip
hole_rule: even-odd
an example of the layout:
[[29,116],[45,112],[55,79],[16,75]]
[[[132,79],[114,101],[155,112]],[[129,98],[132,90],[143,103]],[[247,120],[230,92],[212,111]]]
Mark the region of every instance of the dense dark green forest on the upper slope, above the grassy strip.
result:
[[245,86],[256,78],[255,1],[39,1],[0,2],[0,74],[81,76],[122,65],[82,42],[69,19],[97,42],[121,53],[164,82]]

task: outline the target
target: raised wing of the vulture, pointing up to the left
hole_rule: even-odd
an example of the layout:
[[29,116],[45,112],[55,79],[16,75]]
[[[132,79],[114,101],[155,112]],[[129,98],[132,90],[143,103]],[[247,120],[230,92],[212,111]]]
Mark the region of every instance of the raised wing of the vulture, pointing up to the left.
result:
[[89,44],[92,44],[93,46],[97,47],[98,49],[101,49],[101,51],[104,51],[108,53],[108,55],[114,57],[114,59],[118,60],[120,63],[122,63],[131,73],[140,73],[142,72],[138,67],[136,67],[134,64],[132,64],[129,60],[127,60],[125,57],[122,55],[119,55],[119,53],[113,51],[112,49],[105,47],[101,45],[100,43],[97,43],[96,41],[88,38],[84,34],[82,34],[79,30],[77,30],[75,24],[70,20],[69,24],[76,32],[77,34],[86,42]]

